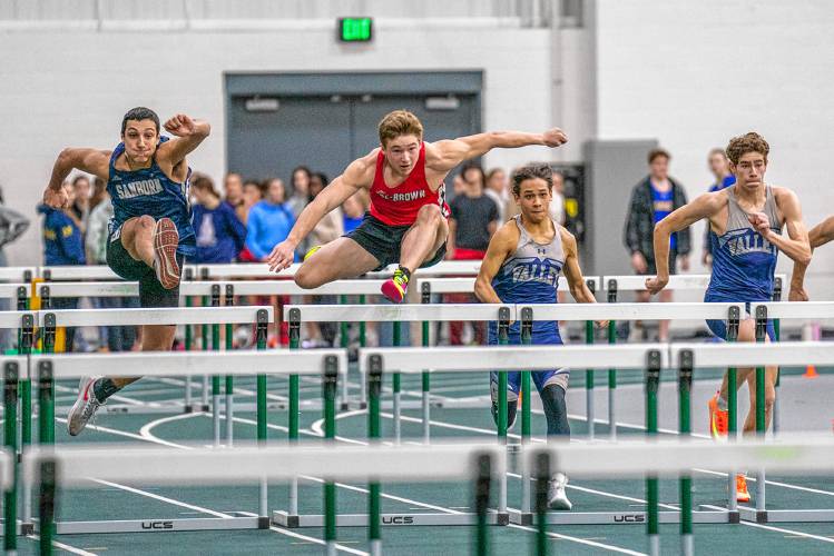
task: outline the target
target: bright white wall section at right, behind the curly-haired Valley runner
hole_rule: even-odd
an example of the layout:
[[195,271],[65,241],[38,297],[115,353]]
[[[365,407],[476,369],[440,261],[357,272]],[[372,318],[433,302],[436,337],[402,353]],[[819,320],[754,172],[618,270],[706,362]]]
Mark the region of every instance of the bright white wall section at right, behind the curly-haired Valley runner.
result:
[[[771,143],[767,180],[798,193],[808,227],[834,214],[834,4],[597,0],[596,8],[600,139],[658,138],[691,198],[710,183],[707,151],[756,130]],[[789,272],[786,259],[779,271]],[[834,298],[832,275],[828,246],[810,269],[814,298]]]

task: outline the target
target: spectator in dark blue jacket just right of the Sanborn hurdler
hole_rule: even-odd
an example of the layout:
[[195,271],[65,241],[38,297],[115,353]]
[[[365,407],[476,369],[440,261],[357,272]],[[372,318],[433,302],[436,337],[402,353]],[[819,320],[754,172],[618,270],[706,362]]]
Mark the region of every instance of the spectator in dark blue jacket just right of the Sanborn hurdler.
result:
[[197,201],[192,209],[192,225],[197,235],[194,262],[232,262],[246,241],[246,228],[235,210],[220,201],[208,176],[198,173],[192,178],[192,195]]

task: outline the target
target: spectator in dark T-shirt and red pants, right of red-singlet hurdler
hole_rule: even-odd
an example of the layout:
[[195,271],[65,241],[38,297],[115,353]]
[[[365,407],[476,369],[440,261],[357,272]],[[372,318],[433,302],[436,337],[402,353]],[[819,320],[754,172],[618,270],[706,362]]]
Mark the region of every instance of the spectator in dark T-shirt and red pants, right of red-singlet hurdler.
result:
[[[449,205],[449,239],[447,258],[451,260],[481,260],[487,255],[490,238],[498,229],[499,212],[496,202],[484,192],[483,170],[479,166],[465,166],[463,171],[465,189]],[[447,302],[471,302],[470,294],[451,294]],[[485,340],[485,324],[474,322],[474,341]],[[463,344],[463,322],[449,324],[449,342]]]

